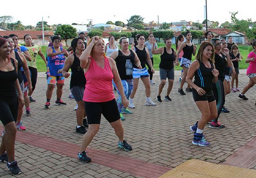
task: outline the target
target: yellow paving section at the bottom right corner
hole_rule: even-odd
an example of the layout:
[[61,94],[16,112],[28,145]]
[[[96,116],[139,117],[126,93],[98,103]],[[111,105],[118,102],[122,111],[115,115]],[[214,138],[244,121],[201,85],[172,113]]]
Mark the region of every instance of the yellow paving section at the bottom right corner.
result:
[[256,170],[192,159],[159,178],[256,178]]

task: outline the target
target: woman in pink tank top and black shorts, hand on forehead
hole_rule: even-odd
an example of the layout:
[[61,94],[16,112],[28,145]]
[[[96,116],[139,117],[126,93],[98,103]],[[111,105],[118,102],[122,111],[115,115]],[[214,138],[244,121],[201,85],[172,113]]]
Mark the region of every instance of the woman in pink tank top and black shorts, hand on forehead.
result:
[[83,100],[89,128],[83,137],[78,158],[82,162],[91,161],[85,150],[100,129],[101,114],[114,128],[119,139],[118,147],[125,151],[132,150],[132,147],[123,139],[123,125],[113,93],[112,79],[120,91],[125,108],[129,102],[123,92],[123,85],[114,60],[105,56],[103,39],[98,36],[91,38],[79,59],[85,71],[86,87]]

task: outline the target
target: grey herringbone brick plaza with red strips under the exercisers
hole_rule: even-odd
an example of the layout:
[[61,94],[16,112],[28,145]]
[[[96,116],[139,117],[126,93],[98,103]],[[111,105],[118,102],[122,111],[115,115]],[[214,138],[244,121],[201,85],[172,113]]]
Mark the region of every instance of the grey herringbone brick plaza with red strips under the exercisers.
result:
[[[117,136],[102,117],[100,131],[87,150],[92,160],[90,163],[77,159],[83,135],[75,132],[75,100],[68,98],[70,80],[65,81],[62,97],[67,105],[54,105],[54,89],[51,107],[45,109],[46,79],[38,78],[33,94],[37,101],[30,107],[32,115],[22,117],[27,130],[17,131],[16,160],[23,174],[16,177],[156,178],[191,159],[256,169],[255,86],[245,94],[249,100],[238,98],[239,92],[226,97],[225,106],[230,113],[221,113],[219,118],[226,128],[211,129],[206,125],[204,135],[211,145],[199,147],[191,143],[193,134],[189,126],[200,118],[201,113],[192,93],[178,94],[179,73],[176,71],[170,95],[172,101],[162,103],[156,101],[160,84],[156,73],[156,84],[150,85],[151,99],[156,106],[145,106],[144,86],[139,82],[134,98],[136,108],[131,109],[132,115],[124,115],[126,120],[122,121],[125,138],[133,146],[131,152],[117,147]],[[249,80],[245,70],[239,79],[242,89]],[[186,86],[185,83],[184,89]],[[167,84],[162,99],[166,89]],[[3,130],[2,125],[0,130]],[[4,163],[0,163],[0,177],[11,177]]]

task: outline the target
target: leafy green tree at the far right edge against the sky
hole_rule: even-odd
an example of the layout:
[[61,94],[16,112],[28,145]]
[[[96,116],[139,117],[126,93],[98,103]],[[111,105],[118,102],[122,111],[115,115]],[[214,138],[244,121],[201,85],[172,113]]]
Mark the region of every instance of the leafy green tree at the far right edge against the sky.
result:
[[248,37],[249,40],[253,40],[256,38],[256,25],[251,21],[251,19],[247,20],[239,20],[236,15],[238,12],[230,12],[231,21],[234,24],[231,29],[233,31],[240,31]]

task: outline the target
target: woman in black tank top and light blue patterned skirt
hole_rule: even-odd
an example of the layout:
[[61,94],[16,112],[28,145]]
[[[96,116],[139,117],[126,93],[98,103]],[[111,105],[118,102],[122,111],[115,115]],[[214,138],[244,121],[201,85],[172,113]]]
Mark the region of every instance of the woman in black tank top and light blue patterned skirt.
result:
[[[149,63],[152,73],[155,73],[155,70],[153,68],[152,61],[149,57],[149,50],[146,47],[144,47],[144,43],[145,43],[144,35],[138,34],[136,39],[138,41],[138,45],[132,47],[131,49],[134,50],[136,52],[136,54],[138,55],[142,69],[137,69],[136,66],[133,67],[133,91],[130,95],[128,107],[135,108],[135,106],[133,104],[133,98],[138,89],[139,78],[142,80],[144,87],[145,87],[146,105],[155,106],[155,103],[150,99],[150,81],[149,81],[149,73],[148,73],[148,71],[146,69],[146,65],[145,65],[146,61]],[[136,77],[134,75],[135,73],[136,73]]]

